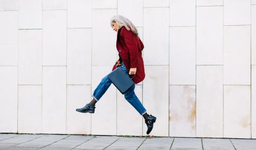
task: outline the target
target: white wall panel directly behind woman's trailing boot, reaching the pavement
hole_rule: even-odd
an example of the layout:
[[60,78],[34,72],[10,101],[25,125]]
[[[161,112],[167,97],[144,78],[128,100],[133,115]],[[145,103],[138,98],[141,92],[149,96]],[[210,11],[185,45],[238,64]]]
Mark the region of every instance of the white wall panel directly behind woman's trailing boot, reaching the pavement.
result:
[[[145,66],[143,81],[143,106],[147,113],[156,117],[152,136],[169,136],[169,85],[168,65]],[[143,136],[147,135],[143,119]]]

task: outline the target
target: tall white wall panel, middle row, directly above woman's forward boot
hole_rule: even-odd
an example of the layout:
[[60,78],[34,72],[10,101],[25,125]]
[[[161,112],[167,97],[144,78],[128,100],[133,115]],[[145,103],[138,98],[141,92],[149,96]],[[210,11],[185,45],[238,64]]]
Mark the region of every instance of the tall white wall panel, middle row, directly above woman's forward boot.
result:
[[91,84],[92,29],[67,30],[67,84]]

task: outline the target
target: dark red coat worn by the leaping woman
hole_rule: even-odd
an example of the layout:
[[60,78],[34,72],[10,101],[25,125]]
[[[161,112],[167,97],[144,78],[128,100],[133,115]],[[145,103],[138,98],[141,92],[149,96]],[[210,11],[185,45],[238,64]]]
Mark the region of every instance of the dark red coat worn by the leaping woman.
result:
[[[144,63],[142,58],[142,50],[144,45],[139,36],[133,34],[132,31],[128,31],[126,27],[122,26],[117,32],[116,49],[126,66],[127,71],[130,68],[137,68],[136,75],[132,74],[135,84],[140,83],[145,78]],[[112,71],[116,68],[113,66]]]

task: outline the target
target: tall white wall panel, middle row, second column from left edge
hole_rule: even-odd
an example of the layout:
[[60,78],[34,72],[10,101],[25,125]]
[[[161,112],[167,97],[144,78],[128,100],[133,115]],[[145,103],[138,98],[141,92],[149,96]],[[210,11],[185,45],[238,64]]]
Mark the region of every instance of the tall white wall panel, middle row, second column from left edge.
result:
[[19,30],[19,84],[42,83],[42,31],[41,29]]

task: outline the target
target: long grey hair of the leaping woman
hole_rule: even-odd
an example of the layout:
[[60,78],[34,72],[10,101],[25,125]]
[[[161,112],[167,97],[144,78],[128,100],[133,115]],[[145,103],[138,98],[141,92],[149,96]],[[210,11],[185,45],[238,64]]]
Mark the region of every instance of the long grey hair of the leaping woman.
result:
[[132,30],[132,32],[138,36],[139,33],[137,31],[137,28],[134,26],[133,22],[130,21],[129,19],[127,19],[126,17],[122,16],[122,15],[115,15],[113,16],[111,19],[110,19],[110,26],[111,26],[111,23],[112,22],[116,22],[117,25],[119,26],[124,26],[126,27],[126,29],[129,31],[129,30]]

